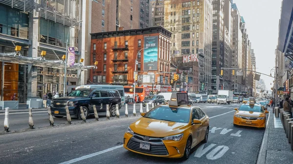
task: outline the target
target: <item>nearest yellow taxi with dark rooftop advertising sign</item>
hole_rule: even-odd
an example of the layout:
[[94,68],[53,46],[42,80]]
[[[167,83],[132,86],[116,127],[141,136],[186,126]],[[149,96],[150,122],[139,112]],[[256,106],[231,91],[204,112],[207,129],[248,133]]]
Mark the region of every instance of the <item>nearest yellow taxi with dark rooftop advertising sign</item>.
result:
[[188,93],[174,92],[168,105],[141,114],[124,135],[124,148],[135,153],[188,159],[191,149],[209,137],[209,116],[188,105]]

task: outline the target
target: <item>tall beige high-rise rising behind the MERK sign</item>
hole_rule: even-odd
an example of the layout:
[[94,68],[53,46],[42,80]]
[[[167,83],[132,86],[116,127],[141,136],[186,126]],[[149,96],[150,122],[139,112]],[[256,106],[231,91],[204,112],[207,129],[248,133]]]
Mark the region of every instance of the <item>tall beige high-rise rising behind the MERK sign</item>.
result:
[[211,93],[211,0],[165,0],[164,27],[170,30],[175,57],[198,54],[199,92]]

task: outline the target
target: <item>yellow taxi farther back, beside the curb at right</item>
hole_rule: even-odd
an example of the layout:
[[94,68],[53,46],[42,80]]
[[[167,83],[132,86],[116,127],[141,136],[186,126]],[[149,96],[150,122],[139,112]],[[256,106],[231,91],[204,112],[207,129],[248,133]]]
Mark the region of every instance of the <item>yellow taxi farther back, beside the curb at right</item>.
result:
[[253,100],[242,104],[239,108],[235,108],[235,110],[234,126],[266,128],[266,113],[269,113],[269,111],[263,109],[261,105],[255,104]]

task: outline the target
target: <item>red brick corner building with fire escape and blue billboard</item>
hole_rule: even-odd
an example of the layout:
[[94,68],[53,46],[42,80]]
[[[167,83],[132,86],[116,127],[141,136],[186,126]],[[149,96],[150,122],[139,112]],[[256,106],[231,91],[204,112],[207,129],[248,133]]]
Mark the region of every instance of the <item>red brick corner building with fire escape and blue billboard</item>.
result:
[[98,66],[90,81],[132,85],[137,58],[139,86],[169,85],[171,34],[161,26],[91,34],[91,63]]

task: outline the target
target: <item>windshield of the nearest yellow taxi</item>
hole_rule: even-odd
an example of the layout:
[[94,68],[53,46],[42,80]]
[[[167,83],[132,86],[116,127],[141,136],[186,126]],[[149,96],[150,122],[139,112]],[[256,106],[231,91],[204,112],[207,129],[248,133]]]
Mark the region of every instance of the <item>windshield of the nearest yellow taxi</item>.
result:
[[144,117],[178,123],[189,123],[190,109],[160,106],[151,109]]

